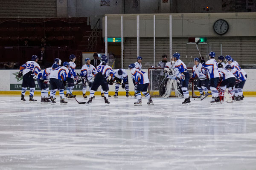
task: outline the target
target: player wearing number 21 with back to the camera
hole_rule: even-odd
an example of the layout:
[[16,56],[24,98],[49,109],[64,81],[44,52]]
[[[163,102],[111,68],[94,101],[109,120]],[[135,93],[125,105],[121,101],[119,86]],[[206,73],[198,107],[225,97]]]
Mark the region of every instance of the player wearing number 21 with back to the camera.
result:
[[107,79],[109,76],[111,76],[111,79],[109,81],[110,85],[113,85],[113,78],[114,78],[114,72],[110,66],[107,65],[108,59],[106,57],[102,58],[102,64],[98,65],[96,67],[96,75],[93,81],[93,85],[90,91],[89,100],[87,102],[87,105],[90,105],[94,96],[95,91],[99,88],[99,86],[102,86],[102,89],[104,91],[104,100],[105,105],[109,105],[110,102],[108,102],[108,82]]

